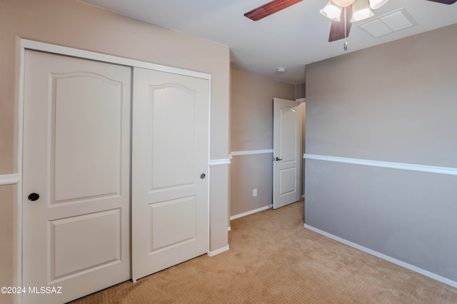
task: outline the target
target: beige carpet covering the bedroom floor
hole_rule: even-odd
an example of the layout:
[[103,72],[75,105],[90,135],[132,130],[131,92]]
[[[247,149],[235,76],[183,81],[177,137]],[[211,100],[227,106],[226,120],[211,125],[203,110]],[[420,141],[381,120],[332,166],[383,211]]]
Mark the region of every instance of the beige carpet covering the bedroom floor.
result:
[[303,202],[231,221],[230,250],[74,303],[457,303],[457,289],[303,228]]

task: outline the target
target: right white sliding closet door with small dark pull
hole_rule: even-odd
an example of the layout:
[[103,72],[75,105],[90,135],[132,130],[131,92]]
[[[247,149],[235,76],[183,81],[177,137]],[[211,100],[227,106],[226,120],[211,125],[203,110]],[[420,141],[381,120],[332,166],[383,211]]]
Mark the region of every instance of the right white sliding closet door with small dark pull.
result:
[[134,69],[132,278],[208,252],[209,80]]

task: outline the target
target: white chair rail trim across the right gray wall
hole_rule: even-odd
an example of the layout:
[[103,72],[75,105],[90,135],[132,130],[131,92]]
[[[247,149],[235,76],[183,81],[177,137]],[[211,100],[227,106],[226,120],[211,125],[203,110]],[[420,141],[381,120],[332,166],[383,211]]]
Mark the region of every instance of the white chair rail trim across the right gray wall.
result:
[[417,172],[426,172],[426,173],[437,173],[445,174],[450,176],[457,176],[457,168],[451,167],[438,167],[438,166],[425,166],[425,165],[416,165],[413,163],[392,163],[389,161],[371,161],[367,159],[358,159],[358,158],[344,158],[336,156],[324,156],[316,154],[304,153],[303,158],[313,159],[316,161],[332,161],[334,163],[350,163],[352,165],[361,165],[361,166],[371,166],[378,168],[390,168],[406,171],[417,171]]

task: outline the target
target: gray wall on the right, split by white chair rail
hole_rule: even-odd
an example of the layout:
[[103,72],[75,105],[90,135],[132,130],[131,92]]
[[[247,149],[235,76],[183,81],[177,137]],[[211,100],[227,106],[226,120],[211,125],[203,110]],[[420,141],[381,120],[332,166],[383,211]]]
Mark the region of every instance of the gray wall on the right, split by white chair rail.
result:
[[[306,68],[306,153],[457,168],[457,25]],[[457,176],[306,160],[305,223],[457,281]]]

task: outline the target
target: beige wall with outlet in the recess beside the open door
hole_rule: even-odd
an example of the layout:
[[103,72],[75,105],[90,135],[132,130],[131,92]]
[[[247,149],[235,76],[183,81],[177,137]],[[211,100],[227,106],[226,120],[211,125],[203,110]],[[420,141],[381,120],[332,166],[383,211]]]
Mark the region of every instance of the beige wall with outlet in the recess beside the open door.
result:
[[[231,151],[273,148],[273,98],[296,98],[296,86],[231,70]],[[233,156],[230,215],[262,208],[272,200],[272,154]],[[252,196],[256,188],[258,195]]]

